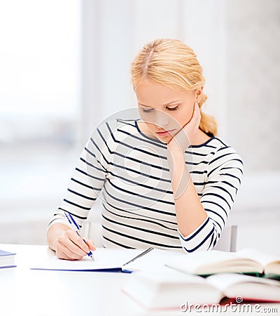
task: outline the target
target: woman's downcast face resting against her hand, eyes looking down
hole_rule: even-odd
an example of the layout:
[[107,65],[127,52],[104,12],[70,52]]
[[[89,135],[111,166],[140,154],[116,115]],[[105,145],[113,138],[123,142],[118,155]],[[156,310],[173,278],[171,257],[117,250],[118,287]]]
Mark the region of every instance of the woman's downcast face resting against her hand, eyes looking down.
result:
[[195,102],[200,102],[202,88],[181,91],[145,81],[135,89],[141,118],[149,131],[169,143],[193,117]]

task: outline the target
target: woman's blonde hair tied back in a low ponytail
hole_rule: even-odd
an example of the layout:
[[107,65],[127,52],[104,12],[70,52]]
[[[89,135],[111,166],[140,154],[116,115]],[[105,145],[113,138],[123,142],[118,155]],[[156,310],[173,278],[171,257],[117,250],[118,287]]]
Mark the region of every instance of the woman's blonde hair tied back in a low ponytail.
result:
[[[202,67],[192,48],[177,39],[155,39],[146,44],[132,62],[132,85],[137,88],[145,80],[163,84],[169,88],[195,91],[204,86]],[[207,96],[202,93],[200,100],[200,129],[217,135],[214,117],[202,112]]]

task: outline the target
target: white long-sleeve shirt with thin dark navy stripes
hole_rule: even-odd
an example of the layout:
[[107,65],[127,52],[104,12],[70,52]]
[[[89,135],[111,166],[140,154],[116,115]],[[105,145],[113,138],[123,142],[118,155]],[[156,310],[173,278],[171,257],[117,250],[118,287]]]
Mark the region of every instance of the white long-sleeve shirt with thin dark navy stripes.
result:
[[232,147],[214,136],[188,147],[185,161],[207,212],[206,220],[188,236],[181,234],[176,222],[167,145],[142,133],[135,120],[107,121],[83,149],[50,225],[67,225],[64,210],[83,225],[100,197],[105,247],[209,250],[221,236],[235,201],[243,164]]

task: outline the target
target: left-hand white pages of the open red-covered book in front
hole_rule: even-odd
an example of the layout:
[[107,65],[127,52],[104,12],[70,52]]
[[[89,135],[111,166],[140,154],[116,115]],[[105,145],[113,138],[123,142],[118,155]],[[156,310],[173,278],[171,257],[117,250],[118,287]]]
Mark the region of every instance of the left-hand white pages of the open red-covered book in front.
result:
[[187,310],[188,304],[219,303],[223,297],[221,291],[203,277],[172,269],[169,272],[134,272],[123,291],[151,310],[179,309],[180,306]]

